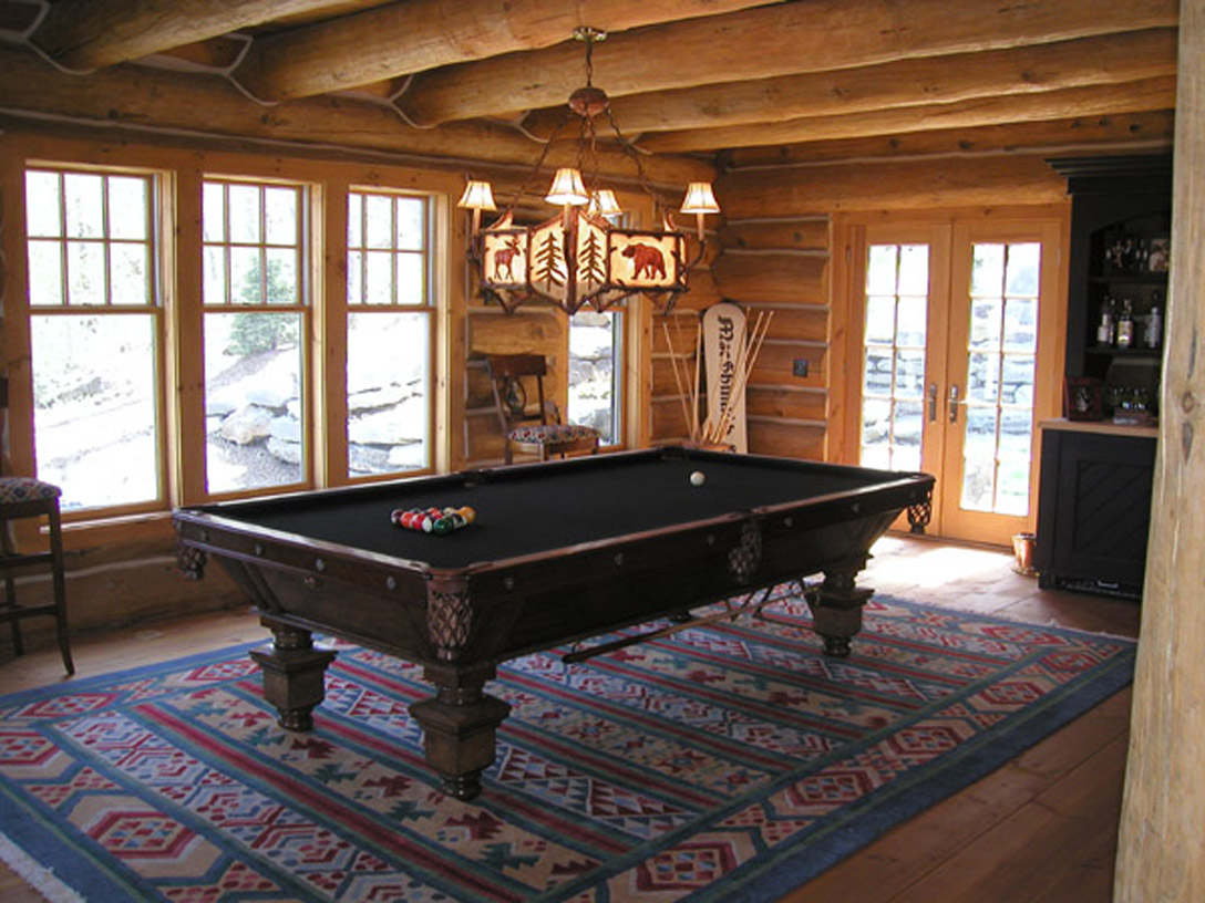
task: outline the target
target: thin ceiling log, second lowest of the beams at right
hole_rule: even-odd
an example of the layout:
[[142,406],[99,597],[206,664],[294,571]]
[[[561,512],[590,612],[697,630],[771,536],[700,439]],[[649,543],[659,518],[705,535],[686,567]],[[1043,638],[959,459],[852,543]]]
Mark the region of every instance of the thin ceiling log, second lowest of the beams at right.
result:
[[1044,94],[983,98],[958,104],[880,110],[848,116],[817,116],[786,123],[741,125],[723,129],[652,132],[636,142],[653,153],[684,153],[715,148],[790,144],[803,141],[857,138],[901,131],[971,129],[1036,119],[1172,110],[1176,106],[1174,76],[1146,78],[1127,84],[1065,88]]

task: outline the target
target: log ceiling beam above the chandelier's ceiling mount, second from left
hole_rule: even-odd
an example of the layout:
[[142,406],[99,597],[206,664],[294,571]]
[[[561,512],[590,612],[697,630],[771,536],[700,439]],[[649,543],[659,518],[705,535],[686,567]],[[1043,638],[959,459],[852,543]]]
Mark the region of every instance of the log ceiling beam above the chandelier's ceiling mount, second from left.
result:
[[570,40],[578,25],[623,31],[764,2],[407,0],[258,39],[237,78],[254,96],[276,101],[566,41],[581,58],[581,45]]

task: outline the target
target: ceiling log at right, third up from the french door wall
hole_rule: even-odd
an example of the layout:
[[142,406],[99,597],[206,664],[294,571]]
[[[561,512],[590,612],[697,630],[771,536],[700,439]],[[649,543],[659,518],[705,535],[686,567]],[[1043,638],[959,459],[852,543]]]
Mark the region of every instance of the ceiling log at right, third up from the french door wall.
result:
[[[627,134],[639,135],[1116,84],[1175,75],[1176,41],[1176,29],[1148,29],[898,60],[831,72],[631,94],[613,99],[611,112]],[[523,128],[546,138],[564,114],[564,104],[540,110],[523,120]]]

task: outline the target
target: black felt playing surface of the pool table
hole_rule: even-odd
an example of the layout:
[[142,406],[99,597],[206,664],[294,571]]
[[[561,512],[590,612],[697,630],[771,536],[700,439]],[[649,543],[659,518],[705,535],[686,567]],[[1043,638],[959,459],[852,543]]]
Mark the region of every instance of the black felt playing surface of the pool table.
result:
[[[705,476],[701,486],[690,483],[695,471]],[[903,476],[729,454],[636,453],[301,492],[202,510],[306,541],[455,568],[856,492]],[[395,508],[465,504],[476,510],[476,521],[442,536],[390,523]]]

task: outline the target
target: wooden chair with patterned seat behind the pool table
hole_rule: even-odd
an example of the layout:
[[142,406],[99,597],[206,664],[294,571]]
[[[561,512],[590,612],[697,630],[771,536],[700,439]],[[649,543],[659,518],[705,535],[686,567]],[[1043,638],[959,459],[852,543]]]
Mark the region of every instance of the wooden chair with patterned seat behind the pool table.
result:
[[[540,354],[492,354],[489,379],[494,389],[498,421],[506,437],[506,464],[515,452],[535,454],[541,461],[549,455],[564,458],[570,452],[598,454],[599,431],[592,426],[562,424],[556,403],[545,401],[543,377],[548,364]],[[531,409],[524,378],[536,386],[537,407]]]

